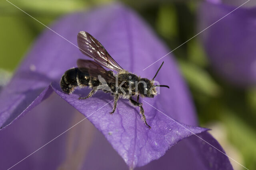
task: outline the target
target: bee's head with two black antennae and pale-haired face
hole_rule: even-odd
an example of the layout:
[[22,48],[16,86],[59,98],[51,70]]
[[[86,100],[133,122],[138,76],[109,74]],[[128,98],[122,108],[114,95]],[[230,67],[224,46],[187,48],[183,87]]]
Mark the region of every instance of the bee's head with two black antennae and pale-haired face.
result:
[[[164,64],[164,62],[158,68],[156,75],[159,72],[159,70],[163,64]],[[156,75],[154,76],[154,78],[156,77]],[[140,94],[142,94],[143,96],[148,97],[148,98],[154,98],[154,96],[157,95],[156,87],[169,88],[169,86],[166,86],[166,85],[154,85],[154,78],[152,80],[148,80],[147,78],[140,79],[140,82],[138,83],[138,91]]]

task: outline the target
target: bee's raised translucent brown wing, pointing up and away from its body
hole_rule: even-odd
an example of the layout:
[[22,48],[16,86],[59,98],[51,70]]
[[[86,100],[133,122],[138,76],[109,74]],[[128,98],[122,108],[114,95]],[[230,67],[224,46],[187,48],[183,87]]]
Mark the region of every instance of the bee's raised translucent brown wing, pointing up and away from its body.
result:
[[101,43],[89,33],[80,31],[77,35],[77,43],[80,51],[84,53],[84,55],[94,59],[94,61],[100,65],[118,72],[122,70],[122,67],[114,61]]

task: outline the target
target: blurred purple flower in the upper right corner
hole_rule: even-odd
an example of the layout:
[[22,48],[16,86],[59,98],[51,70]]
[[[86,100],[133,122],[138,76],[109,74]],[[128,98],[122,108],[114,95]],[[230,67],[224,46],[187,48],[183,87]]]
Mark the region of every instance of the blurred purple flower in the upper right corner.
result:
[[[239,2],[238,2],[239,1]],[[224,2],[226,2],[224,0]],[[242,5],[245,0],[207,0],[199,10],[199,28],[205,29]],[[238,6],[230,6],[236,4]],[[206,29],[202,42],[212,67],[236,86],[256,84],[256,3],[248,2]],[[254,5],[254,7],[252,7]]]

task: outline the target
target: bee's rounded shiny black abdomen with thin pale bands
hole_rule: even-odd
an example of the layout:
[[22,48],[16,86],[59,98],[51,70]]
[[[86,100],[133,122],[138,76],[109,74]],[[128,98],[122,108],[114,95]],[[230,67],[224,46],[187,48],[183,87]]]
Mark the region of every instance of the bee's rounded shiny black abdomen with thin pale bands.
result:
[[67,70],[61,80],[60,87],[66,94],[74,92],[76,86],[89,86],[90,76],[88,73],[81,72],[78,68]]

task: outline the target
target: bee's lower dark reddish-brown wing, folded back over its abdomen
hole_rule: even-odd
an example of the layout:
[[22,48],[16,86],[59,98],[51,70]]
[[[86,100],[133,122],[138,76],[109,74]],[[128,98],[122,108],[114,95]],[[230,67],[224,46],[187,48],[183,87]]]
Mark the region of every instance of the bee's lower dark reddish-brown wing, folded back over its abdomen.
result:
[[107,83],[116,83],[116,78],[94,61],[78,59],[77,66],[81,72],[87,73],[92,77],[99,78],[98,76],[100,75]]

